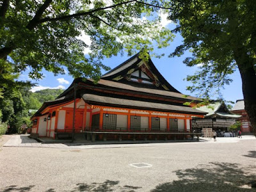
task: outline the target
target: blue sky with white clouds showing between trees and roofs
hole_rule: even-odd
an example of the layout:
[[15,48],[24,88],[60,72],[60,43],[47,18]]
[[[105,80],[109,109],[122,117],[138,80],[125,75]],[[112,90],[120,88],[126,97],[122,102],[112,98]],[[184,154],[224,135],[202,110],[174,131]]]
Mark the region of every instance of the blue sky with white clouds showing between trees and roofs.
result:
[[[166,20],[165,17],[163,17],[161,24],[168,28],[172,28],[173,25],[170,21]],[[88,37],[81,37],[81,39],[84,39],[85,41],[90,40]],[[190,93],[186,90],[186,86],[191,85],[191,83],[183,80],[184,78],[186,78],[186,76],[192,75],[196,70],[198,70],[197,67],[186,67],[186,65],[182,62],[187,56],[189,56],[190,53],[186,52],[181,57],[168,58],[168,54],[173,52],[175,47],[177,45],[180,45],[181,43],[182,37],[180,35],[177,35],[173,42],[171,42],[169,47],[161,49],[160,51],[156,50],[156,52],[165,53],[165,56],[163,58],[151,59],[154,65],[156,65],[156,68],[159,70],[159,72],[170,84],[172,84],[174,88],[176,88],[177,90],[179,90],[179,92],[184,93],[186,95],[195,96],[195,94]],[[124,62],[128,58],[129,57],[127,57],[127,54],[123,57],[113,56],[112,58],[104,60],[103,63],[111,68],[115,68],[117,65],[120,65],[120,63]],[[51,72],[47,72],[44,70],[44,79],[40,79],[39,81],[33,81],[28,77],[28,72],[29,71],[25,71],[22,74],[20,74],[19,79],[23,81],[29,80],[33,83],[37,83],[38,86],[32,88],[33,92],[45,88],[65,89],[68,88],[68,86],[74,80],[74,78],[72,76],[68,76],[68,74],[54,76]],[[103,70],[102,74],[104,74]],[[239,71],[237,70],[230,77],[233,79],[233,82],[230,83],[230,85],[225,86],[225,90],[222,90],[222,93],[225,100],[232,100],[233,102],[236,102],[237,99],[243,99],[241,76],[239,74]]]

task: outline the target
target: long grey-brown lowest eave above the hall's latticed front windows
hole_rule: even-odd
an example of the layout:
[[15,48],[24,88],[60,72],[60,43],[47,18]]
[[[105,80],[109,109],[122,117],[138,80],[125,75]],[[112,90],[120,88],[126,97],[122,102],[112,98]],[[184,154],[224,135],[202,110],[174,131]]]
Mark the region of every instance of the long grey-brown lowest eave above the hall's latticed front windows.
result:
[[128,100],[128,99],[118,99],[113,97],[104,97],[93,94],[84,94],[84,102],[88,104],[98,104],[104,106],[115,106],[119,108],[133,108],[133,109],[147,109],[154,111],[164,111],[173,113],[186,113],[194,115],[205,115],[204,111],[199,111],[194,108],[185,106],[173,106],[169,104],[159,104],[154,102],[144,102],[139,100]]

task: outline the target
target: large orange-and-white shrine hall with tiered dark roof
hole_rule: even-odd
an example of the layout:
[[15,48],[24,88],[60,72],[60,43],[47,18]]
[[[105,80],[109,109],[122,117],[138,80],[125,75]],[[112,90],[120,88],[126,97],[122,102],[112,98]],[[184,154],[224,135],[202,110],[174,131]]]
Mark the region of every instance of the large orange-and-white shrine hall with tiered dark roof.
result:
[[[33,133],[56,138],[76,132],[90,140],[156,140],[186,138],[192,117],[204,111],[184,106],[184,97],[139,54],[107,72],[97,84],[74,79],[56,100],[33,115]],[[75,118],[74,118],[75,117]]]

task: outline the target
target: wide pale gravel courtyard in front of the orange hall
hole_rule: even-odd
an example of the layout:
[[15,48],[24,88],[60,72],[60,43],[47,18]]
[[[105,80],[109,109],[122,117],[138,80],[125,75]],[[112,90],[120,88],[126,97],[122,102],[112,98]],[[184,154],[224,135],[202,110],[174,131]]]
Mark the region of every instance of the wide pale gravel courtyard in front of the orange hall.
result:
[[128,148],[0,147],[0,191],[256,191],[250,186],[256,180],[255,150],[255,139]]

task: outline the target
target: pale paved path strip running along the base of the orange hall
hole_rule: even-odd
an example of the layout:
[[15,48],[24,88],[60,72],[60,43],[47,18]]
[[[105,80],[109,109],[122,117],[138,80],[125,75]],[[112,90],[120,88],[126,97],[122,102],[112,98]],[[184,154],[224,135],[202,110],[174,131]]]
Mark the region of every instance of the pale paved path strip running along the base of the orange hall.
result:
[[[186,140],[184,142],[166,142],[159,141],[159,143],[115,143],[109,144],[104,143],[102,141],[98,141],[95,143],[38,143],[38,141],[31,139],[28,137],[29,135],[13,135],[6,143],[4,143],[3,147],[40,147],[40,148],[120,148],[120,147],[152,147],[152,146],[165,146],[165,145],[178,145],[182,144],[191,144],[190,140]],[[200,138],[199,142],[193,141],[195,144],[201,143],[235,143],[241,140],[255,140],[255,136],[246,135],[243,138],[217,138],[217,141],[214,141],[212,138]]]

